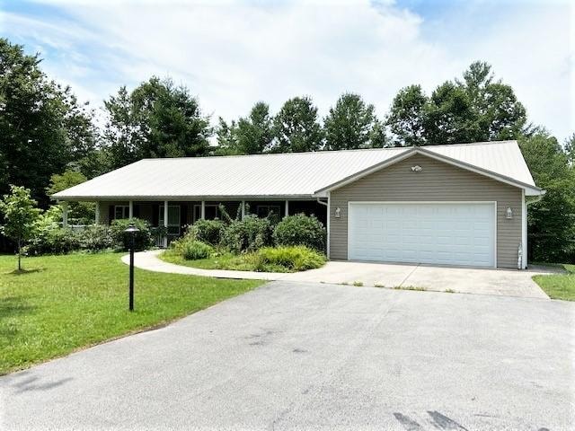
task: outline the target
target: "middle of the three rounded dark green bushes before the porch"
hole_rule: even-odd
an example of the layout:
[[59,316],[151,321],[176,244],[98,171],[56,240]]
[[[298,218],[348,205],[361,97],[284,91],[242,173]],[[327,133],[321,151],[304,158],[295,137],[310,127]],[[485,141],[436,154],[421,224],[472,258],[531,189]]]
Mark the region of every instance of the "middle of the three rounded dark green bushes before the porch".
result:
[[255,216],[234,220],[223,229],[220,244],[233,253],[257,251],[271,245],[270,220]]

